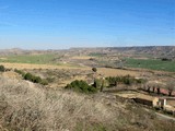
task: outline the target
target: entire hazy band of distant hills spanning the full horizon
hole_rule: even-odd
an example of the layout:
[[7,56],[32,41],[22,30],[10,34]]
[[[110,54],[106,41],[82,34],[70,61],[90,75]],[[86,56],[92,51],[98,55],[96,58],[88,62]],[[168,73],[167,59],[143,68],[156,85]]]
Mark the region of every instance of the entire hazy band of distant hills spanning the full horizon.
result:
[[155,58],[175,59],[175,46],[145,46],[145,47],[103,47],[103,48],[70,48],[67,50],[23,50],[20,48],[0,50],[0,56],[8,55],[33,55],[62,52],[68,55],[101,53],[126,53],[126,55],[149,55]]

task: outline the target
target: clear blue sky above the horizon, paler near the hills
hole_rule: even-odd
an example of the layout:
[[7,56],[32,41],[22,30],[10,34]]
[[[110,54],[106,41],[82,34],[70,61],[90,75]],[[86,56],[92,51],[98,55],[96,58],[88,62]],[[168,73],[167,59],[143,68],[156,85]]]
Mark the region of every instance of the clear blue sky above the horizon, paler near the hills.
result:
[[0,49],[175,46],[175,0],[0,0]]

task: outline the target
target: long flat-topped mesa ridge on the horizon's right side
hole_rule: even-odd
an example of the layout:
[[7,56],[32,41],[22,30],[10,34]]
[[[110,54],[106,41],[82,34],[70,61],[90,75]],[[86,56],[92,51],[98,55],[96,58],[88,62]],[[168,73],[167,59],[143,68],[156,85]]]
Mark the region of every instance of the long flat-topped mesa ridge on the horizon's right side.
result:
[[175,59],[175,46],[145,46],[145,47],[104,47],[104,48],[71,48],[70,50],[90,53],[126,53],[149,55],[156,58]]

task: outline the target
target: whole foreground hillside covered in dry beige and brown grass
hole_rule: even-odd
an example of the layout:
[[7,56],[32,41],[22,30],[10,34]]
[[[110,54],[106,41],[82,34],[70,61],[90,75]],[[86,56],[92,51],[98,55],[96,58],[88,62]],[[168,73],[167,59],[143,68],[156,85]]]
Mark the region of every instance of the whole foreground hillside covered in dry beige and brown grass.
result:
[[174,122],[160,121],[136,104],[113,95],[54,91],[3,76],[0,76],[0,130],[148,131],[175,128]]

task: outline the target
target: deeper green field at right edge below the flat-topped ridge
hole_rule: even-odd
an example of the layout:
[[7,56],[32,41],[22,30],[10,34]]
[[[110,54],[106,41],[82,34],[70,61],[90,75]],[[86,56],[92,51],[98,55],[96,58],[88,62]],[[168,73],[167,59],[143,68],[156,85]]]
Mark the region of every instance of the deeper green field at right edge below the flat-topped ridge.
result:
[[142,68],[142,69],[175,72],[175,61],[127,58],[125,66],[128,68]]

